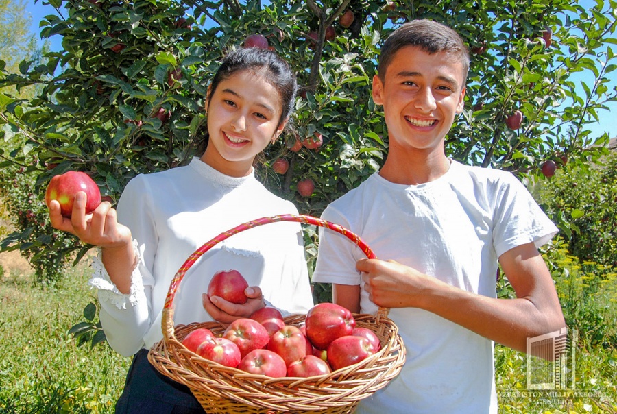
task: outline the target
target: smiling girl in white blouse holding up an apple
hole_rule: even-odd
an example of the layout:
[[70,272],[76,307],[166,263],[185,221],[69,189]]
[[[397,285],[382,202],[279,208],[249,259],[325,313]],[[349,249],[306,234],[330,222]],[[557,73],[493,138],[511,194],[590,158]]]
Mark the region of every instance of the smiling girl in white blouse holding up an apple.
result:
[[[90,284],[101,324],[120,354],[134,355],[116,413],[203,413],[189,389],[159,374],[147,352],[162,339],[161,310],[173,276],[217,234],[259,217],[298,210],[256,180],[254,158],[281,134],[295,100],[295,76],[276,53],[238,49],[223,58],[208,90],[208,144],[201,158],[132,179],[117,211],[103,202],[85,215],[79,193],[71,219],[49,206],[55,228],[100,247]],[[205,295],[217,271],[247,279],[246,304]],[[229,323],[265,306],[306,313],[313,306],[299,223],[271,223],[216,245],[189,269],[174,300],[174,323]]]

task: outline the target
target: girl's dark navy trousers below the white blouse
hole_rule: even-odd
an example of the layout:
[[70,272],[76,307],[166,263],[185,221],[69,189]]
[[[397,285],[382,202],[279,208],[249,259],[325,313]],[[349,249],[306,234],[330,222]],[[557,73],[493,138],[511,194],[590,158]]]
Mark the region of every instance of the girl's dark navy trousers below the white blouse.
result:
[[204,414],[189,387],[160,374],[140,350],[126,376],[116,414]]

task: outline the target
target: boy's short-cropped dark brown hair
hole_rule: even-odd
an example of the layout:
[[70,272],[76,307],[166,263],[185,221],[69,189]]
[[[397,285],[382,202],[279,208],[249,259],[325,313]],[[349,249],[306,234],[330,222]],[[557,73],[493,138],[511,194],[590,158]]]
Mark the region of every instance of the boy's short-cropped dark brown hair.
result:
[[379,56],[377,73],[382,82],[388,66],[399,49],[418,46],[426,53],[451,53],[463,64],[463,86],[469,72],[469,49],[461,36],[450,27],[428,19],[412,20],[398,27],[385,40]]

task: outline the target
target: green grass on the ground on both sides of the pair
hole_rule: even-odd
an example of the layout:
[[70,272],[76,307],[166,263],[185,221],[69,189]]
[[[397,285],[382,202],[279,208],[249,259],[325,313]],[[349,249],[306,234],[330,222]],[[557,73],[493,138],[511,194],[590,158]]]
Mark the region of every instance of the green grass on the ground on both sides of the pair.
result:
[[[106,343],[77,346],[68,333],[95,295],[88,274],[80,265],[54,289],[33,287],[28,276],[0,277],[0,414],[114,412],[130,358]],[[499,413],[617,413],[615,344],[579,343],[576,392],[526,391],[525,367],[524,354],[496,345]]]

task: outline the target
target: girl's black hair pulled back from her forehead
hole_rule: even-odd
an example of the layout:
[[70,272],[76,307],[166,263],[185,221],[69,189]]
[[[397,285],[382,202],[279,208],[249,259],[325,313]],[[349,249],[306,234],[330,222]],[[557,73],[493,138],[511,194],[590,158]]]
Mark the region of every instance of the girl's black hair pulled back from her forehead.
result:
[[298,88],[295,75],[289,64],[282,60],[274,51],[246,47],[230,51],[221,61],[219,70],[210,82],[207,105],[217,90],[219,84],[239,71],[256,71],[264,73],[265,79],[278,90],[281,103],[279,124],[291,115],[295,103],[295,93]]

